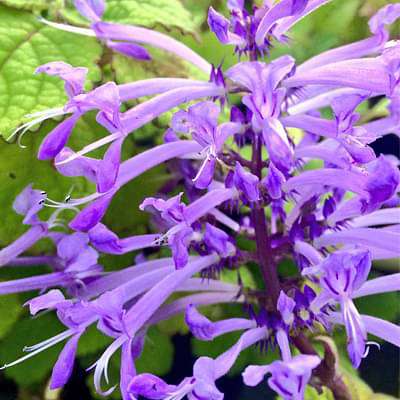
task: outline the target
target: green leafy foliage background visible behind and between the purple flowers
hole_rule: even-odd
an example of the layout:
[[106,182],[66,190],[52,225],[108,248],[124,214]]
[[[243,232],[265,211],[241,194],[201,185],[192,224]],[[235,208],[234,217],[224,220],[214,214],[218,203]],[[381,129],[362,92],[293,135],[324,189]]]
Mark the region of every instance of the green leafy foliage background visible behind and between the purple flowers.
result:
[[[87,89],[108,80],[125,83],[154,76],[201,77],[191,66],[161,51],[152,50],[154,59],[139,63],[111,54],[93,38],[57,31],[45,26],[37,18],[38,15],[43,15],[54,21],[84,26],[85,21],[78,16],[70,3],[68,0],[0,0],[0,246],[15,240],[25,229],[21,225],[21,218],[12,212],[11,205],[15,196],[28,183],[34,183],[35,187],[47,191],[49,197],[56,200],[63,199],[72,185],[75,197],[93,190],[86,181],[72,181],[61,177],[50,163],[36,160],[42,138],[55,126],[56,121],[47,121],[36,127],[34,132],[28,132],[22,139],[26,148],[6,141],[15,127],[28,120],[26,114],[64,104],[66,97],[62,82],[57,78],[34,75],[37,66],[49,61],[86,66],[90,71]],[[223,62],[224,67],[228,67],[236,62],[232,48],[222,47],[207,30],[206,11],[211,3],[224,10],[222,0],[108,0],[105,19],[168,32],[212,63]],[[289,52],[301,62],[322,50],[365,37],[368,35],[368,17],[386,3],[386,0],[334,0],[295,27],[290,48],[278,46],[271,56]],[[400,26],[395,26],[393,33],[399,36]],[[130,157],[160,142],[160,135],[168,120],[169,115],[164,115],[131,135],[124,147],[124,157]],[[94,116],[88,115],[78,123],[70,145],[80,149],[103,135],[104,131],[95,124]],[[114,200],[106,216],[107,225],[121,236],[146,231],[148,220],[144,213],[138,212],[138,204],[146,195],[154,194],[165,179],[166,171],[159,167],[127,185]],[[50,243],[44,241],[32,253],[41,254],[48,250]],[[107,269],[118,269],[130,265],[133,258],[132,254],[118,259],[104,257],[103,263]],[[393,266],[379,266],[380,270],[387,268]],[[45,268],[40,266],[29,270],[4,269],[0,278],[21,278],[43,271]],[[25,345],[37,343],[61,330],[53,315],[48,314],[35,320],[28,317],[22,304],[30,297],[31,294],[0,297],[1,363],[18,358]],[[397,304],[396,295],[385,294],[369,297],[368,301],[360,301],[358,305],[366,314],[395,321],[398,319]],[[240,310],[214,307],[209,312],[210,317],[217,318],[222,314],[234,315]],[[138,363],[138,370],[160,375],[168,373],[174,356],[171,337],[177,333],[187,333],[182,318],[175,318],[153,328],[146,342],[144,355]],[[341,343],[339,352],[343,353],[342,332],[338,332],[337,337]],[[212,344],[192,340],[193,353],[214,356],[229,347],[234,340],[234,335],[215,340]],[[83,367],[89,366],[107,343],[108,339],[95,329],[89,330],[80,342],[80,364]],[[31,400],[33,396],[57,399],[58,393],[50,393],[46,387],[52,364],[59,351],[60,347],[52,348],[5,371],[5,376],[18,384],[20,400]],[[271,361],[273,357],[274,354],[265,357],[255,350],[249,350],[241,356],[233,374],[238,373],[249,360],[257,363]],[[114,360],[112,376],[117,374],[117,365],[118,360]],[[389,398],[374,394],[357,378],[345,361],[343,368],[347,371],[346,379],[351,382],[354,390],[354,399]],[[115,398],[118,396],[116,393]],[[243,399],[250,398],[249,396],[251,392],[243,392]],[[0,383],[0,399],[2,398]],[[310,390],[307,398],[329,399],[332,396],[330,393],[318,395]]]

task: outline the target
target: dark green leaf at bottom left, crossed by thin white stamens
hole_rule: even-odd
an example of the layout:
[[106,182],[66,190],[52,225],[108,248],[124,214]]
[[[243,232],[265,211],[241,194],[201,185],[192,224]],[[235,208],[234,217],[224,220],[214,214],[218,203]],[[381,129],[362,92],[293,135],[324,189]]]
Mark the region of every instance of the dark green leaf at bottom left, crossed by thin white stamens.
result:
[[[64,328],[65,330],[65,328]],[[37,319],[23,318],[18,321],[0,343],[0,362],[9,363],[26,355],[22,352],[25,346],[40,343],[63,331],[63,327],[54,315],[43,315]],[[50,374],[62,344],[51,347],[29,360],[14,367],[7,368],[5,375],[22,386],[43,382]]]

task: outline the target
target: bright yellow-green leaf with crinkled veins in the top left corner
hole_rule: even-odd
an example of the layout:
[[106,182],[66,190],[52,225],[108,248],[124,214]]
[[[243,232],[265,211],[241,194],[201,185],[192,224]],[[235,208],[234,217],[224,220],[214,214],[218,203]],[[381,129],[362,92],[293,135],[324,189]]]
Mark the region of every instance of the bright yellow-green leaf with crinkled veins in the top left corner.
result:
[[0,135],[8,138],[28,120],[26,114],[64,105],[63,82],[34,75],[38,66],[64,61],[88,67],[91,86],[100,78],[100,54],[101,46],[93,38],[58,31],[28,12],[0,6]]

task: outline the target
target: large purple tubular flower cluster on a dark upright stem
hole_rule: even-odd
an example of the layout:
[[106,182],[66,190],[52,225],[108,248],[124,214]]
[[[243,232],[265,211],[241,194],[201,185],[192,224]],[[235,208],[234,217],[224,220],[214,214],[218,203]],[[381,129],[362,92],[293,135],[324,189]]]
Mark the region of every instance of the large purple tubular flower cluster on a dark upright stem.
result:
[[[303,399],[308,383],[349,399],[339,372],[314,349],[310,333],[329,335],[335,325],[344,325],[356,368],[368,354],[368,334],[400,346],[399,327],[360,314],[353,302],[400,288],[398,273],[368,279],[372,261],[399,254],[399,161],[376,157],[369,144],[400,131],[400,43],[390,41],[387,30],[400,17],[400,4],[388,4],[371,18],[367,39],[300,65],[291,56],[264,58],[275,41],[289,41],[294,24],[328,2],[265,0],[249,11],[243,0],[228,0],[230,19],[210,8],[211,31],[242,59],[228,70],[215,68],[163,33],[102,21],[103,0],[75,0],[90,29],[45,21],[95,36],[139,60],[151,58],[143,45],[161,48],[192,63],[206,78],[108,82],[85,92],[85,68],[62,62],[37,68],[64,81],[68,101],[63,109],[41,112],[16,133],[47,117],[67,115],[43,140],[38,157],[53,160],[62,175],[95,183],[96,192],[56,202],[28,186],[15,200],[14,209],[29,229],[0,251],[0,265],[47,264],[52,272],[1,282],[0,293],[40,290],[27,303],[30,312],[54,310],[65,330],[26,348],[27,355],[6,367],[66,340],[51,377],[51,388],[60,388],[71,375],[81,335],[97,324],[113,338],[93,365],[94,385],[103,395],[114,389],[103,390],[101,381],[103,374],[107,380],[109,360],[120,350],[124,400],[223,399],[216,381],[243,350],[258,345],[265,351],[277,346],[281,359],[248,366],[244,384],[255,386],[269,374],[268,385],[283,399]],[[231,93],[240,101],[232,103],[237,96]],[[123,103],[145,96],[121,111]],[[388,116],[361,122],[358,106],[378,97],[389,100]],[[129,135],[176,107],[163,144],[122,160]],[[74,151],[69,137],[91,110],[109,135]],[[324,117],[323,110],[332,117]],[[293,128],[302,132],[301,139],[291,136]],[[108,148],[102,159],[87,156],[103,146]],[[244,148],[251,149],[250,157]],[[156,232],[120,238],[102,223],[121,187],[157,165],[168,167],[173,159],[171,193],[155,193],[140,204],[140,210],[152,214]],[[310,160],[320,160],[321,167],[307,168]],[[39,214],[46,206],[55,211],[43,220]],[[68,227],[61,218],[65,210],[74,212]],[[54,242],[54,254],[22,255],[45,237]],[[256,251],[241,249],[239,237],[254,241]],[[161,247],[169,248],[171,257],[154,257]],[[143,249],[150,250],[129,268],[105,273],[98,263],[100,254]],[[295,261],[295,277],[278,273],[284,257]],[[220,279],[223,269],[240,274],[249,261],[258,264],[264,290]],[[169,300],[174,293],[181,297]],[[198,311],[218,303],[243,303],[242,317],[211,321]],[[200,357],[179,384],[137,374],[135,360],[148,328],[178,313],[200,340],[243,333],[217,358]]]

